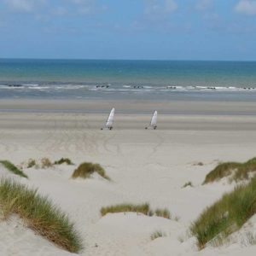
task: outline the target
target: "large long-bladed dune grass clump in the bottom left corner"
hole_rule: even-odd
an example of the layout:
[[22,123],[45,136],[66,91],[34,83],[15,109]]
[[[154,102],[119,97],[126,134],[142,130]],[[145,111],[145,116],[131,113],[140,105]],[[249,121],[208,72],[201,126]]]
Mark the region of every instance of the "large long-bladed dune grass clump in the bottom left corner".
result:
[[38,195],[37,189],[11,179],[0,180],[0,207],[3,217],[15,213],[27,226],[57,246],[72,253],[82,249],[79,234],[67,215],[59,210],[47,197]]

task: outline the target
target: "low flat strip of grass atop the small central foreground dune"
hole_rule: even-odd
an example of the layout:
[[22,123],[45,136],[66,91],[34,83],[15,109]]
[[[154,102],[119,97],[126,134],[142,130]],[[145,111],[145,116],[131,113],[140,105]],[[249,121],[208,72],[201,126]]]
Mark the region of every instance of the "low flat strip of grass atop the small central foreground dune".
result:
[[133,204],[120,204],[111,207],[102,207],[101,213],[102,216],[107,213],[115,213],[115,212],[140,212],[145,215],[148,215],[149,205],[148,203],[141,205],[133,205]]

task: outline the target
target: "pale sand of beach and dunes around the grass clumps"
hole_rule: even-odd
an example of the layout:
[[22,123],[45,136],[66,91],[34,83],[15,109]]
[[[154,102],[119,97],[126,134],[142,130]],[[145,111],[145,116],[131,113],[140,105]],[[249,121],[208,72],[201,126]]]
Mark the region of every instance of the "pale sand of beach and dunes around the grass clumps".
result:
[[[106,113],[0,113],[1,159],[19,165],[30,158],[68,157],[76,166],[100,163],[111,177],[112,182],[72,180],[75,166],[65,165],[25,169],[28,180],[15,177],[69,214],[84,240],[81,255],[255,255],[256,247],[239,239],[197,252],[195,237],[186,234],[205,207],[234,187],[224,181],[202,186],[206,174],[219,160],[255,156],[254,116],[166,114],[160,115],[156,131],[143,129],[150,119],[146,113],[117,113],[113,131],[100,131],[105,119]],[[196,166],[199,161],[204,165]],[[10,174],[0,166],[0,175]],[[182,189],[189,181],[194,187]],[[101,207],[123,202],[166,207],[179,220],[136,213],[100,216]],[[156,230],[166,236],[151,241]],[[68,254],[16,217],[0,222],[0,255]]]

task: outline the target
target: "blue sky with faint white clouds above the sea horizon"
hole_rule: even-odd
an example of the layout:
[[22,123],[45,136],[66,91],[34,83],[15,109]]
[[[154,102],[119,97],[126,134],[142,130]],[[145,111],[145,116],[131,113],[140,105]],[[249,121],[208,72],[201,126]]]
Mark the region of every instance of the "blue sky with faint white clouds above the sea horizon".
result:
[[256,0],[0,0],[0,58],[256,61]]

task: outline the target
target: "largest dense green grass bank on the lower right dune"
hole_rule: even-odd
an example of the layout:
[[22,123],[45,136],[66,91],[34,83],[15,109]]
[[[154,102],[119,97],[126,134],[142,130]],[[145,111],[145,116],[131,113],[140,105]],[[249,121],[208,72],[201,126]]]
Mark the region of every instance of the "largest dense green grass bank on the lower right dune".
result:
[[215,237],[226,237],[241,228],[256,213],[256,176],[236,188],[201,213],[190,230],[203,248]]

